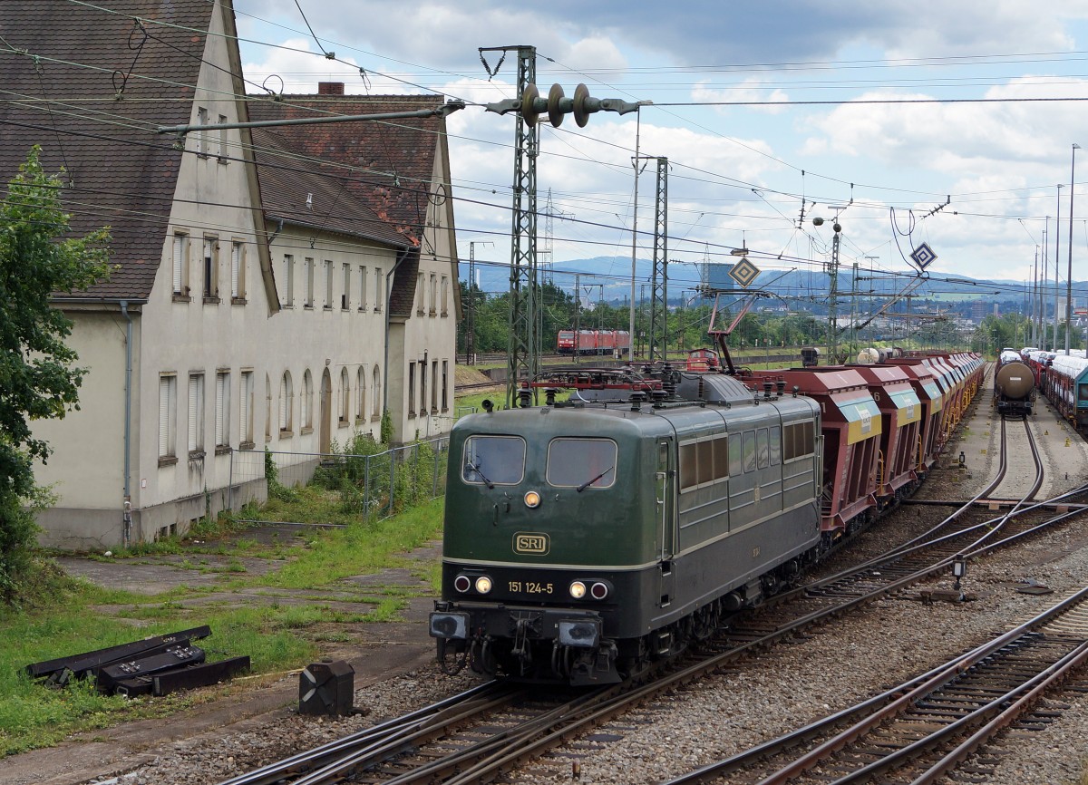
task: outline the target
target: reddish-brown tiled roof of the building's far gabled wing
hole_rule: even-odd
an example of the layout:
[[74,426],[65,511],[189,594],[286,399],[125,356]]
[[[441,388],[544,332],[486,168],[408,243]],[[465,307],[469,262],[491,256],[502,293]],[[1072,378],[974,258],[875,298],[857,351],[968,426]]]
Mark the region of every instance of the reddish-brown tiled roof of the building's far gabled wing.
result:
[[[444,102],[442,96],[316,95],[284,96],[282,101],[250,98],[249,116],[255,121],[415,112],[435,109]],[[435,116],[280,126],[276,130],[292,149],[330,162],[323,169],[337,178],[346,177],[344,182],[353,194],[418,244],[426,220],[435,155],[445,128],[445,120]],[[418,270],[416,249],[397,270],[391,292],[392,313],[410,314]]]

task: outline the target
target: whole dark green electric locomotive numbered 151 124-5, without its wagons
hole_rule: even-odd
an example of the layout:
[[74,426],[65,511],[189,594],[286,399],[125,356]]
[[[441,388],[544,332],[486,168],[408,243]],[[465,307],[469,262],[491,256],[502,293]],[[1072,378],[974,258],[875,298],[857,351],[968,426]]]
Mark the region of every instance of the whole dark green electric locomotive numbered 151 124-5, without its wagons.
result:
[[818,552],[818,403],[725,375],[626,379],[455,426],[430,618],[447,669],[617,682]]

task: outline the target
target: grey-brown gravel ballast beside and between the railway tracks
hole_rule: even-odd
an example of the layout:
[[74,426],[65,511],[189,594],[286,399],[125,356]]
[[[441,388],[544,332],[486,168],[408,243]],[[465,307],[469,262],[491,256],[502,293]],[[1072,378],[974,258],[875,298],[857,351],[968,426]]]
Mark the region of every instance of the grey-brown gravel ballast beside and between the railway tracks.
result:
[[[980,401],[985,403],[986,401]],[[1064,447],[1065,436],[1053,415],[1040,406],[1034,427],[1048,432],[1044,450],[1060,460],[1062,478],[1053,478],[1047,490],[1072,486],[1088,477],[1088,447]],[[965,432],[963,449],[968,469],[935,473],[919,497],[965,498],[970,487],[985,482],[985,456],[989,454],[989,425],[979,407]],[[972,438],[985,440],[978,446]],[[950,456],[957,456],[960,445]],[[975,452],[975,450],[987,450]],[[1056,453],[1056,454],[1055,454]],[[1009,476],[1034,472],[1023,451],[1011,457]],[[1068,472],[1070,481],[1064,479]],[[969,476],[965,476],[969,475]],[[1017,481],[1018,482],[1018,481]],[[1007,495],[1011,495],[1009,491]],[[994,496],[1006,495],[1003,489]],[[895,514],[864,535],[857,551],[875,551],[891,541],[913,536],[935,521],[942,508],[904,506]],[[573,762],[580,765],[580,784],[658,783],[692,768],[739,752],[769,737],[786,733],[831,711],[924,672],[965,651],[994,633],[1015,626],[1055,600],[1088,585],[1088,529],[1083,524],[1039,538],[1015,555],[991,557],[969,566],[964,588],[975,595],[972,602],[924,605],[918,589],[881,600],[841,624],[815,631],[804,640],[776,647],[718,677],[646,705],[596,728],[591,738],[553,751],[536,763],[502,780],[504,783],[570,782]],[[850,555],[853,557],[853,553]],[[846,558],[846,557],[844,557]],[[829,564],[828,569],[833,569]],[[1015,589],[1035,581],[1054,589],[1051,596],[1030,596]],[[936,582],[919,588],[948,588]],[[151,746],[138,761],[120,763],[110,772],[122,785],[172,785],[217,783],[290,752],[350,733],[382,719],[446,697],[473,683],[466,675],[441,675],[424,668],[380,681],[356,695],[356,706],[366,707],[363,717],[343,720],[297,717],[277,711]],[[1011,731],[996,748],[981,758],[993,768],[986,782],[1010,785],[1033,783],[1080,783],[1088,771],[1088,696],[1062,699],[1071,706],[1059,721],[1043,731]],[[101,768],[99,768],[99,773]],[[12,780],[0,774],[0,783],[23,785],[40,778]],[[94,782],[76,772],[50,783]]]

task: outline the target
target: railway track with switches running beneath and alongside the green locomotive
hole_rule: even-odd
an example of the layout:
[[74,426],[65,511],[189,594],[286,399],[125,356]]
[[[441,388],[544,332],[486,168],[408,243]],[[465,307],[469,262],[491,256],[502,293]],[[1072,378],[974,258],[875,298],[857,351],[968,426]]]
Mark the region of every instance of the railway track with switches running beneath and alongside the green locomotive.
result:
[[[812,625],[948,573],[956,558],[977,558],[1078,514],[1080,510],[1073,509],[1047,518],[1042,511],[1053,500],[1030,501],[1041,474],[1041,463],[1037,463],[1035,488],[1006,513],[987,516],[968,502],[920,537],[851,571],[780,596],[776,603],[734,620],[729,632],[653,673],[641,674],[639,680],[591,693],[547,697],[540,691],[485,685],[480,693],[450,698],[422,715],[416,712],[385,723],[380,736],[362,734],[343,748],[337,746],[342,743],[326,745],[321,751],[265,767],[259,770],[263,773],[254,773],[256,778],[245,775],[226,783],[316,785],[347,776],[368,783],[487,782],[636,705],[722,668],[735,668],[750,652],[795,638]],[[999,471],[994,482],[972,501],[992,493],[1001,476]],[[1079,490],[1088,493],[1088,487]]]

